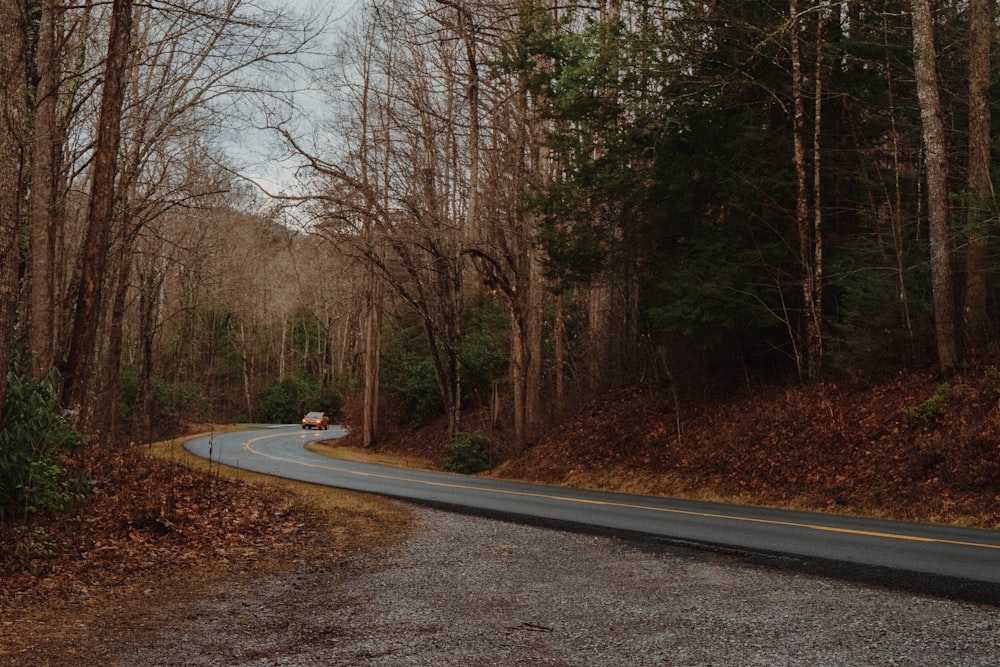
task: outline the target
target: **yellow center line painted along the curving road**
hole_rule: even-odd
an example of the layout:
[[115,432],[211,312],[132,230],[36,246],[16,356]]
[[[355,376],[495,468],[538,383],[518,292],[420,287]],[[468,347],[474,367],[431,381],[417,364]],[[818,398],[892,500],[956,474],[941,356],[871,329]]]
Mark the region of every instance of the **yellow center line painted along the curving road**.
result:
[[951,544],[951,545],[963,546],[963,547],[980,547],[980,548],[983,548],[983,549],[997,549],[997,550],[1000,550],[1000,545],[998,545],[998,544],[983,544],[983,543],[979,543],[979,542],[963,542],[963,541],[960,541],[960,540],[943,540],[943,539],[938,539],[938,538],[933,538],[933,537],[920,537],[918,535],[906,535],[906,534],[900,534],[900,533],[883,533],[883,532],[878,532],[878,531],[857,530],[857,529],[854,529],[854,528],[837,528],[835,526],[819,526],[819,525],[816,525],[816,524],[798,523],[798,522],[794,522],[794,521],[778,521],[778,520],[774,520],[774,519],[757,519],[757,518],[753,518],[753,517],[732,516],[732,515],[728,515],[728,514],[715,514],[715,513],[712,513],[712,512],[695,512],[693,510],[680,510],[680,509],[671,509],[671,508],[666,508],[666,507],[651,507],[649,505],[637,505],[637,504],[632,504],[632,503],[621,503],[621,502],[613,502],[613,501],[607,501],[607,500],[594,500],[594,499],[588,499],[588,498],[571,498],[571,497],[567,497],[567,496],[545,494],[545,493],[534,493],[534,492],[528,492],[528,491],[513,491],[513,490],[508,490],[508,489],[491,489],[491,488],[488,488],[488,487],[474,486],[474,485],[469,485],[469,484],[453,484],[453,483],[449,483],[449,482],[438,482],[438,481],[430,481],[430,480],[418,480],[418,479],[413,479],[413,478],[410,478],[410,477],[401,477],[401,476],[389,475],[389,474],[385,474],[385,473],[373,473],[373,472],[364,472],[364,471],[360,471],[360,470],[348,470],[346,468],[338,468],[336,466],[326,466],[326,465],[322,465],[322,464],[319,464],[319,463],[306,463],[306,462],[303,462],[303,461],[296,461],[296,460],[291,459],[291,458],[285,458],[285,457],[282,457],[282,456],[275,456],[273,454],[268,454],[267,452],[262,452],[260,450],[254,449],[252,447],[252,445],[254,443],[256,443],[256,442],[258,442],[260,440],[266,440],[268,438],[285,437],[286,435],[287,434],[281,434],[281,435],[264,435],[264,436],[260,436],[258,438],[252,438],[252,439],[248,440],[243,445],[243,448],[246,449],[247,451],[251,452],[251,453],[257,454],[258,456],[263,456],[263,457],[271,459],[273,461],[281,461],[281,462],[284,462],[284,463],[295,463],[297,465],[305,466],[307,468],[319,468],[319,469],[322,469],[322,470],[331,470],[331,471],[334,471],[334,472],[341,472],[341,473],[347,473],[349,475],[356,475],[358,477],[374,477],[374,478],[378,478],[378,479],[386,479],[386,480],[391,480],[391,481],[409,482],[411,484],[422,484],[424,486],[438,486],[438,487],[450,488],[450,489],[461,489],[461,490],[465,490],[465,491],[480,491],[480,492],[486,492],[486,493],[494,493],[494,494],[498,494],[498,495],[521,496],[521,497],[526,497],[526,498],[541,498],[541,499],[545,499],[545,500],[558,500],[558,501],[567,502],[567,503],[578,503],[578,504],[581,504],[581,505],[604,505],[604,506],[608,506],[608,507],[621,507],[621,508],[625,508],[625,509],[648,510],[648,511],[651,511],[651,512],[662,512],[664,514],[676,514],[676,515],[682,515],[682,516],[694,516],[694,517],[700,517],[700,518],[706,518],[706,519],[725,519],[725,520],[729,520],[729,521],[742,521],[744,523],[757,523],[757,524],[765,524],[765,525],[771,525],[771,526],[785,526],[785,527],[789,527],[789,528],[806,528],[806,529],[809,529],[809,530],[818,530],[818,531],[829,532],[829,533],[842,533],[842,534],[846,534],[846,535],[864,535],[864,536],[867,536],[867,537],[881,537],[881,538],[891,539],[891,540],[906,540],[906,541],[909,541],[909,542],[930,542],[930,543],[937,543],[937,544]]

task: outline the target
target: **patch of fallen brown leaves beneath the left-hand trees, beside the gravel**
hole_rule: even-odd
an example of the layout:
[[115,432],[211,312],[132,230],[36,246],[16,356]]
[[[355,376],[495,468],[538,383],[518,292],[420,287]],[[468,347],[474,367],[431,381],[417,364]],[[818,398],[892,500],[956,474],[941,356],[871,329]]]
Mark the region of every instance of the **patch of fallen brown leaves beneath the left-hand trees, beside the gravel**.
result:
[[0,580],[0,600],[18,591],[37,594],[39,579],[69,592],[95,578],[127,583],[199,559],[252,558],[294,540],[307,525],[276,494],[140,449],[91,446],[79,464],[94,484],[77,512],[48,527],[59,556],[36,559]]

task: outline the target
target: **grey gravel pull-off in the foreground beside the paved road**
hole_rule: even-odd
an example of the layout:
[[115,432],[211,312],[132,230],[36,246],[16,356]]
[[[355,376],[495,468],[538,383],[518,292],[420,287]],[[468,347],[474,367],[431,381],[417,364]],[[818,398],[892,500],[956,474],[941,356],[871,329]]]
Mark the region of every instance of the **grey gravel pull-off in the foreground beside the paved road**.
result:
[[413,528],[384,550],[175,580],[137,593],[142,615],[122,601],[81,619],[113,629],[94,645],[66,638],[8,664],[985,666],[1000,655],[995,607],[403,507]]

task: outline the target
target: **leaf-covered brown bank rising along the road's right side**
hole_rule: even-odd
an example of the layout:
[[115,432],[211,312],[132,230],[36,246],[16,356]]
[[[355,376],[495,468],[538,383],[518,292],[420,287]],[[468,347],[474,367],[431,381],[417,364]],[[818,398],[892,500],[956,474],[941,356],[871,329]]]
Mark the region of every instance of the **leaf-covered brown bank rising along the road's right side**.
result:
[[[584,405],[493,473],[631,493],[1000,527],[1000,372],[901,373],[726,399],[635,386]],[[467,418],[477,430],[483,415]],[[480,428],[484,433],[487,429]],[[378,450],[439,466],[440,425]]]

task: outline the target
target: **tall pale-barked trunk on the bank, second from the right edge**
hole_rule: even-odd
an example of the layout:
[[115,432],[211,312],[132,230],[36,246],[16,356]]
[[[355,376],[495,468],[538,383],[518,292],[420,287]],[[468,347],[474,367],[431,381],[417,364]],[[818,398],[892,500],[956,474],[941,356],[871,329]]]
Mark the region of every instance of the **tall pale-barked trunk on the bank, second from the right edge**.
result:
[[948,376],[958,367],[954,259],[948,222],[948,154],[934,62],[934,20],[930,0],[913,0],[913,56],[927,162],[927,216],[934,328],[940,371],[942,375]]

